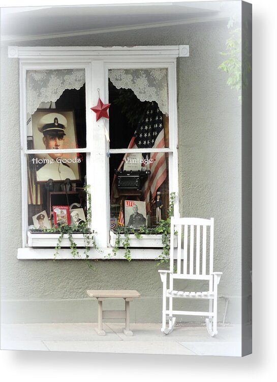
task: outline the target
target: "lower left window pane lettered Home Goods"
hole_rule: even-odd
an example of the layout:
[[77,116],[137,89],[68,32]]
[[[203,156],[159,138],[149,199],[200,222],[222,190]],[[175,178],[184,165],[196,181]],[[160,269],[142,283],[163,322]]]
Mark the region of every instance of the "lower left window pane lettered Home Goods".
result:
[[[86,194],[83,190],[86,154],[50,155],[27,155],[29,228],[39,228],[41,214],[45,215],[45,227],[53,226],[53,206],[83,209],[86,216]],[[82,216],[83,213],[79,212],[79,216]]]

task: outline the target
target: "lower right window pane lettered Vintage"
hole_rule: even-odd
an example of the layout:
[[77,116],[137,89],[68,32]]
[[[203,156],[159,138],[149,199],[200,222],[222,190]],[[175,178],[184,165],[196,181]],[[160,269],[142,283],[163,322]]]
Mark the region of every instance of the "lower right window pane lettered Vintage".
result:
[[[130,160],[132,158],[131,167]],[[135,167],[136,166],[136,167]],[[131,170],[132,168],[132,170]],[[112,169],[115,169],[113,171]],[[111,229],[119,224],[156,226],[167,219],[169,207],[168,153],[112,154],[110,156]],[[132,221],[133,205],[142,214]],[[135,207],[136,208],[136,207]],[[136,211],[135,211],[136,213]]]

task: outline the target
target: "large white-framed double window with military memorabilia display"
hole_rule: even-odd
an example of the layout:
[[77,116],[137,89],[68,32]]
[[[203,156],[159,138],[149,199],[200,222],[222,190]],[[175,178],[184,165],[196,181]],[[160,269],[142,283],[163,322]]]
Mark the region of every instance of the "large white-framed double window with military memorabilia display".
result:
[[[165,218],[169,195],[178,192],[176,57],[188,56],[188,47],[9,47],[9,52],[20,58],[18,257],[52,258],[58,235],[34,227],[48,228],[55,206],[76,207],[86,219],[84,184],[90,185],[91,228],[103,250],[91,257],[111,251],[120,208],[125,225],[134,224],[134,204],[143,224]],[[99,97],[111,103],[110,118],[96,121],[90,108]],[[127,178],[130,172],[136,177]],[[81,235],[75,240],[82,247]],[[134,249],[132,257],[156,258],[157,250],[147,249],[152,246],[143,241],[139,247],[145,249]],[[61,258],[71,258],[70,251],[61,251]]]

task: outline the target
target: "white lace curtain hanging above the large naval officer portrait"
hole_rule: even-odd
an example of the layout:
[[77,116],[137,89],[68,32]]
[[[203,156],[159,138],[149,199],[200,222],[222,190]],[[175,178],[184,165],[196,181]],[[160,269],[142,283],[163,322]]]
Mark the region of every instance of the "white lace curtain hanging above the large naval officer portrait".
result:
[[55,102],[66,89],[79,90],[84,83],[84,69],[28,70],[27,113],[35,113],[41,102]]

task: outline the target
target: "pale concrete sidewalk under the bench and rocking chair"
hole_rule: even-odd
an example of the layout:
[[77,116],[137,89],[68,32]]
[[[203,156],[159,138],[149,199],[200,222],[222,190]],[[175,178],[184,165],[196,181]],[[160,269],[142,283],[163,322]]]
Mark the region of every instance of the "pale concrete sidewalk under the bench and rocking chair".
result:
[[[240,327],[218,327],[210,337],[205,326],[176,326],[161,332],[160,323],[131,323],[134,335],[122,333],[123,323],[105,323],[106,336],[95,332],[97,323],[2,324],[2,350],[80,351],[107,353],[240,356]],[[251,325],[249,330],[251,331]]]

